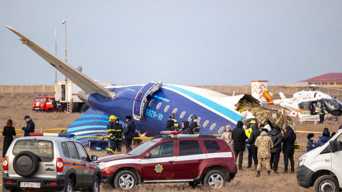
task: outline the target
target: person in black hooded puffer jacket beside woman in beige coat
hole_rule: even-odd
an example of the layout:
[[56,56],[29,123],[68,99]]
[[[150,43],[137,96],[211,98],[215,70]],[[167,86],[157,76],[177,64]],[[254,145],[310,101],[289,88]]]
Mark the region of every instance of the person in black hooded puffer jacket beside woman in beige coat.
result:
[[243,126],[244,123],[242,123],[242,121],[238,121],[236,128],[232,131],[235,162],[237,160],[237,156],[239,155],[239,170],[244,170],[242,169],[242,159],[244,157],[245,143],[248,140],[244,129],[242,129]]

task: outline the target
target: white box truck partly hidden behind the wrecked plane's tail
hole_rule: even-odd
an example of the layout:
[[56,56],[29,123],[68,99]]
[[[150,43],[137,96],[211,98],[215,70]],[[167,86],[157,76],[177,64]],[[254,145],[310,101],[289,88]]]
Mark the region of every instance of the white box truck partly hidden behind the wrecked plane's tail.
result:
[[[109,81],[95,81],[102,86],[112,85]],[[70,110],[72,110],[73,112],[87,111],[89,106],[78,98],[77,93],[79,91],[82,91],[82,89],[72,81],[55,82],[55,100],[59,102],[59,108],[61,108],[62,110],[67,109],[68,102],[70,103],[71,99],[73,99],[73,109]]]

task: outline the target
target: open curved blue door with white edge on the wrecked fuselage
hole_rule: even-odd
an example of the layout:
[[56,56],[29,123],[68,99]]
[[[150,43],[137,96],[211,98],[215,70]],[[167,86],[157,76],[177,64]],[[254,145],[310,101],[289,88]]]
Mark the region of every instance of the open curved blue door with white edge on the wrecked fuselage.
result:
[[133,102],[133,118],[135,120],[140,120],[143,118],[143,111],[144,111],[144,106],[146,104],[146,97],[149,94],[152,94],[156,91],[158,91],[161,87],[161,82],[156,82],[156,81],[151,81],[141,87],[139,90],[138,94],[136,94],[134,102]]

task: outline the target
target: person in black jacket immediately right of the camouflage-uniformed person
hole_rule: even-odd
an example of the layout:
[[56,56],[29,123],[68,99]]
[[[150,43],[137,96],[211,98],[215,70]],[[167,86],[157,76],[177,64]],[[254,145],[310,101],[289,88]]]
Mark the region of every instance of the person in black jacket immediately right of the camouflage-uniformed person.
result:
[[269,164],[271,164],[271,168],[273,165],[273,170],[275,174],[278,174],[278,163],[279,163],[279,157],[281,152],[281,141],[282,141],[282,135],[281,135],[281,129],[279,126],[275,126],[272,131],[268,133],[268,136],[271,137],[273,146],[271,147],[271,161]]

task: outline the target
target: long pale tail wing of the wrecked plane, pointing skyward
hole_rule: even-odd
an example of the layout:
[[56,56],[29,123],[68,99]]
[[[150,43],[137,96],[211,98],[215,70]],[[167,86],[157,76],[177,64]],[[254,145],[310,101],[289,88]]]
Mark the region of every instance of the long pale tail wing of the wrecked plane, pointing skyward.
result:
[[54,68],[56,68],[58,71],[60,71],[62,74],[64,74],[67,78],[69,78],[71,81],[73,81],[77,86],[79,86],[83,91],[85,91],[88,94],[98,93],[100,95],[103,95],[105,97],[115,97],[115,93],[107,90],[94,80],[90,79],[88,76],[84,75],[74,67],[68,65],[67,63],[64,63],[61,59],[54,56],[47,50],[44,50],[42,47],[40,47],[35,42],[31,41],[12,27],[6,26],[8,29],[13,31],[17,36],[19,36],[20,39],[25,45],[30,47],[31,50],[36,52],[39,56],[41,56],[43,59],[48,61],[50,65],[52,65]]

